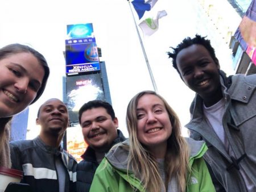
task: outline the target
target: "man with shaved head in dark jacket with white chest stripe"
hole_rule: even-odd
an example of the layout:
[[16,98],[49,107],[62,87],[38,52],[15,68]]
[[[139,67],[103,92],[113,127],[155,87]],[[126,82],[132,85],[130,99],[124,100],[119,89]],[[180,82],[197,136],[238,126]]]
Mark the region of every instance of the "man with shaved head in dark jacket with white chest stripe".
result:
[[49,99],[40,106],[36,124],[38,137],[10,143],[12,168],[23,171],[23,183],[33,192],[76,191],[75,158],[61,147],[68,127],[68,110],[59,99]]

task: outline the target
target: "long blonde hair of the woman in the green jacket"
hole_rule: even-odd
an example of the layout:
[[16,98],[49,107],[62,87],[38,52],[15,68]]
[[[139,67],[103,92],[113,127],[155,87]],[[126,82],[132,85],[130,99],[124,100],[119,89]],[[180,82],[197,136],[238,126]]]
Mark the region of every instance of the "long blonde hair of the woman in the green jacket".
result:
[[[164,157],[166,181],[162,181],[158,169],[158,162],[139,142],[137,136],[137,105],[139,98],[145,94],[156,95],[156,97],[159,97],[163,101],[172,125],[172,133],[167,140],[167,152]],[[172,177],[176,177],[179,191],[185,191],[189,169],[188,145],[184,137],[181,136],[179,118],[166,100],[154,91],[142,91],[138,93],[131,99],[127,106],[126,124],[130,140],[127,169],[131,167],[135,176],[141,178],[144,189],[150,192],[160,192],[164,188],[167,191],[169,181]]]

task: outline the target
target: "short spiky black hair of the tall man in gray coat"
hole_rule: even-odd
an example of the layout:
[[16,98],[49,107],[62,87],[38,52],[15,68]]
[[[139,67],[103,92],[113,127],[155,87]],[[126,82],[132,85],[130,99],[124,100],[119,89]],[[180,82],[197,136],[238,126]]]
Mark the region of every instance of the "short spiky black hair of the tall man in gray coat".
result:
[[181,43],[178,44],[176,48],[170,47],[172,48],[173,52],[172,53],[167,52],[167,55],[169,56],[169,58],[172,58],[172,66],[177,70],[179,74],[180,72],[179,72],[179,69],[177,68],[177,63],[176,63],[177,54],[182,49],[187,48],[193,44],[203,45],[210,53],[210,56],[212,57],[212,59],[218,64],[218,59],[215,55],[214,48],[212,47],[212,45],[210,45],[210,40],[205,39],[205,37],[202,37],[201,35],[196,34],[196,36],[193,39],[191,39],[191,37],[186,37],[185,39],[183,39],[183,41],[181,41]]

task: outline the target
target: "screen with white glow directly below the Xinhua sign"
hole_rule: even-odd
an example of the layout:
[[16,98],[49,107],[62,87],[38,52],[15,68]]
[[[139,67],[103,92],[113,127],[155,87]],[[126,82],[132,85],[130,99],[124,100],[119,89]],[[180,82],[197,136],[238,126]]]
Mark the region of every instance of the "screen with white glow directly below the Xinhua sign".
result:
[[84,103],[98,99],[105,101],[101,74],[84,74],[67,78],[67,107],[71,123],[78,122],[78,111]]

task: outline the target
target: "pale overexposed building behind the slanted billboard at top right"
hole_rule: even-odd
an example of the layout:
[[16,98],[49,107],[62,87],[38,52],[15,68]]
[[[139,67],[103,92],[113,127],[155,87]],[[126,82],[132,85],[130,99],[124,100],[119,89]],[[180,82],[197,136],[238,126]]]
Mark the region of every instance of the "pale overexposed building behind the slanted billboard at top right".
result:
[[[243,46],[238,37],[241,19],[246,16],[246,11],[250,5],[254,5],[251,0],[197,0],[209,17],[210,22],[216,28],[221,38],[231,49],[232,69],[234,73],[253,74],[256,73],[255,62],[253,57],[248,54],[247,46]],[[247,12],[251,15],[251,11]],[[254,32],[255,34],[255,32]],[[253,33],[250,35],[253,36]],[[251,53],[253,55],[253,53]]]

